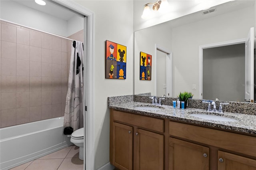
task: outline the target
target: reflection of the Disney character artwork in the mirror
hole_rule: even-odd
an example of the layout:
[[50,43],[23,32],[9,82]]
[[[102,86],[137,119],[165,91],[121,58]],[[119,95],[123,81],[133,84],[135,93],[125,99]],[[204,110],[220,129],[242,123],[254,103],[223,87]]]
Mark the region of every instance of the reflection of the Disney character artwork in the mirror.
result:
[[140,52],[140,80],[151,80],[152,55]]

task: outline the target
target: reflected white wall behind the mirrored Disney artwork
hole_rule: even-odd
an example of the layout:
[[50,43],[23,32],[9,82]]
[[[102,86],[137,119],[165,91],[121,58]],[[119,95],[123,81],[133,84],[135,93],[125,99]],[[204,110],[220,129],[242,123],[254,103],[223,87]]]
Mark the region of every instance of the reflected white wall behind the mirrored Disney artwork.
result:
[[[134,94],[155,91],[155,44],[172,51],[172,30],[165,23],[134,32]],[[152,55],[151,81],[140,80],[140,51]]]

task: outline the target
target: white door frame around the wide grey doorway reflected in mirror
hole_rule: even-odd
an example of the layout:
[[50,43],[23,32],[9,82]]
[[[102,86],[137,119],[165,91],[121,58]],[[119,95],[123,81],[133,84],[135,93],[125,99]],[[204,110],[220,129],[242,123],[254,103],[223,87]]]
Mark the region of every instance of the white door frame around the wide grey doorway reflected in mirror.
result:
[[198,99],[202,99],[203,96],[203,49],[213,48],[213,47],[222,47],[226,45],[235,45],[240,43],[245,43],[246,38],[237,39],[237,40],[230,40],[226,42],[218,42],[218,43],[211,43],[207,45],[199,45],[199,83],[198,83]]

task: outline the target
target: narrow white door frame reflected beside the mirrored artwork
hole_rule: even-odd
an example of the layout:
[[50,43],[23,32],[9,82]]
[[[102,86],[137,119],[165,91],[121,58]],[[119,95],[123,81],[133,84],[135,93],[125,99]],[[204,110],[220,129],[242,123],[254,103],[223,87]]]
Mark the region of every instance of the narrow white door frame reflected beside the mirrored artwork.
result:
[[[164,47],[161,47],[158,44],[155,44],[155,56],[157,56],[157,50],[160,50],[166,53],[166,96],[172,97],[172,52],[170,52],[168,49],[165,49]],[[154,61],[155,61],[154,74],[156,76],[156,62],[157,62],[156,57]],[[156,79],[155,79],[155,94],[156,94]]]

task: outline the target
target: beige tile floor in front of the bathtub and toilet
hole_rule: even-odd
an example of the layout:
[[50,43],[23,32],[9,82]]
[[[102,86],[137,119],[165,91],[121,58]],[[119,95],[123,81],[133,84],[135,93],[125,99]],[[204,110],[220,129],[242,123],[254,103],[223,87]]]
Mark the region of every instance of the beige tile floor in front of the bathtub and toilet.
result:
[[78,158],[79,147],[69,146],[11,170],[83,170],[84,161]]

